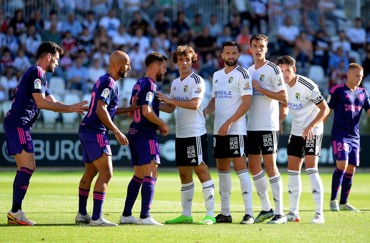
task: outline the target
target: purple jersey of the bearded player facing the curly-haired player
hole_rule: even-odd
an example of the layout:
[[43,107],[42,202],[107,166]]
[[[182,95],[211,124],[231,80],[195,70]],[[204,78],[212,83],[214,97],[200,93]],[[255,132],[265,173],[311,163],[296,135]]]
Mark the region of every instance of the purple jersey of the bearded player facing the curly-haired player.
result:
[[[137,105],[151,106],[155,114],[159,117],[159,100],[155,97],[157,88],[157,85],[155,85],[155,82],[151,78],[141,78],[132,89],[130,105],[132,104],[132,99],[138,93]],[[158,125],[144,117],[142,108],[135,110],[132,116],[133,121],[128,130],[128,140],[143,141],[156,139]]]

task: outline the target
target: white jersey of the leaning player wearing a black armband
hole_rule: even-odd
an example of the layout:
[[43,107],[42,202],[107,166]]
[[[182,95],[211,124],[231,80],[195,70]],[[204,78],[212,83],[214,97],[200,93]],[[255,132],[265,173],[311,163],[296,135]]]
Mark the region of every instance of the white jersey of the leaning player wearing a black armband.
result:
[[[320,109],[316,106],[323,101],[317,85],[309,78],[297,75],[295,85],[290,88],[286,85],[288,92],[288,108],[293,117],[292,135],[302,136],[306,127],[316,118]],[[320,122],[313,128],[314,135],[323,134],[324,124]]]

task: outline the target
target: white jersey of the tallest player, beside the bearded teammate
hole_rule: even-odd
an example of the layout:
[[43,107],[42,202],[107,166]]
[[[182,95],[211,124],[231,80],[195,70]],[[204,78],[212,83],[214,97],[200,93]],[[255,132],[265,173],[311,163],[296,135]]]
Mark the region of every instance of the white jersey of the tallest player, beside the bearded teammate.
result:
[[[253,64],[248,68],[252,79],[267,90],[279,92],[286,90],[283,74],[279,66],[267,61],[255,69]],[[279,131],[279,101],[271,99],[253,88],[252,106],[249,109],[248,131]]]

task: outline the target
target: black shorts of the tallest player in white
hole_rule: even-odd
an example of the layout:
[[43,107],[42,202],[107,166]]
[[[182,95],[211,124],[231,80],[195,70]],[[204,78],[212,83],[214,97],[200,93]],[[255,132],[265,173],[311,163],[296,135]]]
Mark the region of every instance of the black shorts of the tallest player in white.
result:
[[247,147],[249,154],[277,153],[279,131],[247,131]]

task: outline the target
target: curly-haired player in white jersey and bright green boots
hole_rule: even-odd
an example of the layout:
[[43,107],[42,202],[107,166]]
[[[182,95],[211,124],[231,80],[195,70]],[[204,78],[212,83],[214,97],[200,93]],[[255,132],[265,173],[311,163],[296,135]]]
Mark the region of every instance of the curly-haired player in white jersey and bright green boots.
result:
[[165,103],[159,109],[172,113],[176,109],[176,165],[181,179],[181,216],[166,220],[166,223],[192,223],[191,206],[194,196],[193,168],[202,183],[206,216],[197,222],[200,225],[216,223],[215,185],[208,172],[208,141],[202,100],[205,94],[203,78],[192,71],[197,55],[192,47],[180,45],[172,52],[172,63],[178,65],[180,77],[171,85],[169,97],[157,92],[157,97]]

